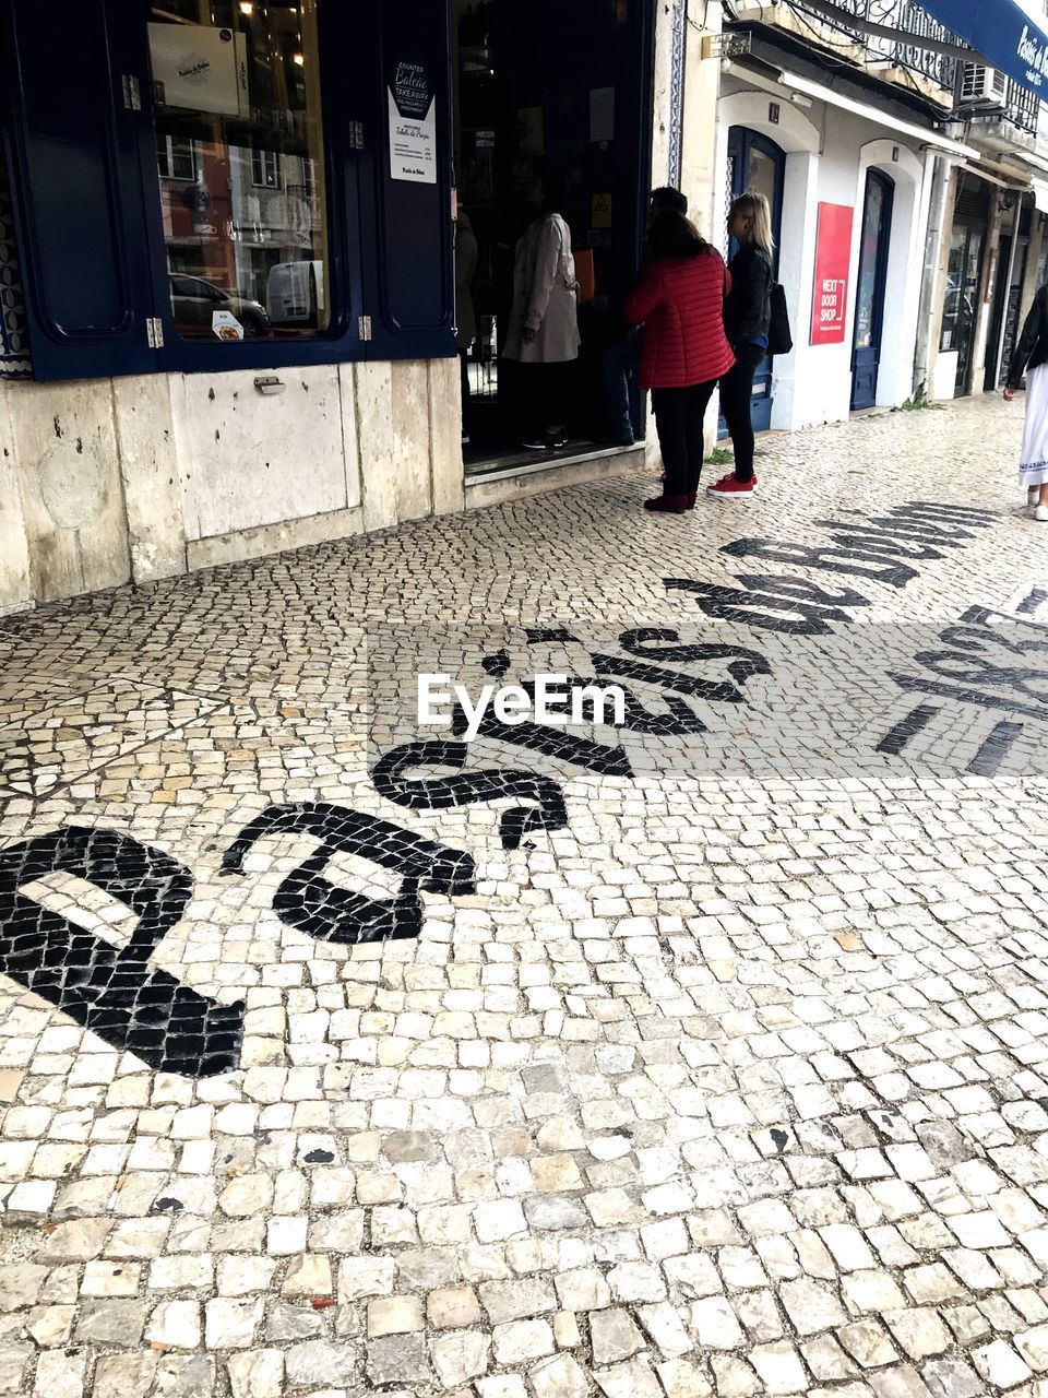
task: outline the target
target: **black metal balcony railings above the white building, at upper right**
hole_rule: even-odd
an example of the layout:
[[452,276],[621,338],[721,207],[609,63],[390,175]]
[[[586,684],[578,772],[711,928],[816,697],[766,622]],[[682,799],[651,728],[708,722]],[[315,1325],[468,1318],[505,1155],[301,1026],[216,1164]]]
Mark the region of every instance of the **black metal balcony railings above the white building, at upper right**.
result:
[[[822,8],[808,6],[805,0],[787,0],[789,8],[805,15],[813,25],[837,31],[852,45],[866,49],[871,59],[904,69],[915,75],[931,78],[943,89],[943,105],[952,108],[957,91],[959,60],[945,53],[922,48],[921,39],[938,39],[943,43],[957,43],[957,35],[945,24],[933,20],[914,0],[834,0],[840,10],[847,10],[858,20],[887,25],[900,31],[898,38],[864,34],[852,28],[847,20],[837,20]],[[911,39],[910,35],[914,35]],[[998,108],[982,108],[984,120],[1010,122],[1020,131],[1037,133],[1037,119],[1041,99],[1007,80]],[[968,115],[968,113],[964,113]]]

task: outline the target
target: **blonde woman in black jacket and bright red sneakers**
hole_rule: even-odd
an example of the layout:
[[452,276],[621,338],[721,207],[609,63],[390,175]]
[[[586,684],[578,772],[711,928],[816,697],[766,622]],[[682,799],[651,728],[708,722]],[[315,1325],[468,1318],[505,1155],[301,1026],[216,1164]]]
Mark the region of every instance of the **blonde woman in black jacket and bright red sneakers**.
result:
[[762,193],[748,190],[731,206],[728,232],[739,250],[731,260],[731,289],[724,302],[724,330],[735,365],[721,379],[721,412],[735,449],[735,470],[707,492],[721,500],[748,500],[757,478],[753,474],[753,375],[767,355],[771,323],[771,210]]

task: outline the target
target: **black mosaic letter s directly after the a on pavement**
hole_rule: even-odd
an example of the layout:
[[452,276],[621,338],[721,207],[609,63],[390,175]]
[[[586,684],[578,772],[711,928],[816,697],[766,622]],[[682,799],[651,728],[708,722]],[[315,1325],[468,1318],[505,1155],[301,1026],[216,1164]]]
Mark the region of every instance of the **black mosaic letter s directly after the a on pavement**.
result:
[[440,811],[506,798],[534,801],[535,805],[502,812],[499,835],[504,850],[520,849],[524,836],[534,830],[560,830],[567,825],[565,795],[552,777],[495,768],[414,781],[405,776],[412,768],[458,770],[468,755],[465,742],[407,742],[380,758],[372,769],[372,780],[376,791],[388,801],[412,811]]

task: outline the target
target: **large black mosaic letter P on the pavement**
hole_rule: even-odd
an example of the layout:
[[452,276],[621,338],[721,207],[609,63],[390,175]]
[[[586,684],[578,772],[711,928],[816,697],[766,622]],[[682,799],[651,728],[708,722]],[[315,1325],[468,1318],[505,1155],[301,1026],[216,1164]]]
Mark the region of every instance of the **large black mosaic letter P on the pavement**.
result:
[[[48,874],[94,884],[138,914],[117,948],[20,892]],[[0,850],[0,972],[158,1072],[205,1078],[240,1061],[243,1004],[219,1005],[147,962],[193,875],[119,830],[68,825]]]

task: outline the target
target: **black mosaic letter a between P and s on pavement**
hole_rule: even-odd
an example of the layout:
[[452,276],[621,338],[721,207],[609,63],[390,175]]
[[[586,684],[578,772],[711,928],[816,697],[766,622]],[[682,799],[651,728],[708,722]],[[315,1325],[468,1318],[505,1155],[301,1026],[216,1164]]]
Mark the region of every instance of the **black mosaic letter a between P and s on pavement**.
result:
[[[226,850],[222,872],[239,874],[245,854],[264,836],[291,833],[312,835],[320,846],[284,879],[272,907],[288,927],[319,941],[358,944],[418,937],[422,889],[449,898],[476,889],[471,854],[450,850],[377,816],[312,801],[271,805],[263,811]],[[402,882],[397,898],[366,898],[326,879],[323,870],[338,853],[398,872]]]

